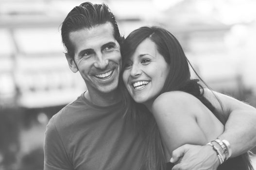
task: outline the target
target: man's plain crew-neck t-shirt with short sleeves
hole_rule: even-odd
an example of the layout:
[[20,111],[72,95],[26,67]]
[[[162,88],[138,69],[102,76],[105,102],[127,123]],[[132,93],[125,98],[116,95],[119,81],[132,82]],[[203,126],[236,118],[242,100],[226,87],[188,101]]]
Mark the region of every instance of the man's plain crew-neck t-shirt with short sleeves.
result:
[[44,170],[138,170],[144,143],[121,103],[101,107],[81,95],[49,121]]

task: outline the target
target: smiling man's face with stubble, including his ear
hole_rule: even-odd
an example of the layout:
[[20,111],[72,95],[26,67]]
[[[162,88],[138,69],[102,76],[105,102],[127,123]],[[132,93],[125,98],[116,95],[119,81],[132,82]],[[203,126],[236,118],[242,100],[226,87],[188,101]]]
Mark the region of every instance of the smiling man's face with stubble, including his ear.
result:
[[79,71],[89,93],[110,93],[117,89],[120,71],[120,46],[110,22],[71,32],[74,60],[68,59],[73,72]]

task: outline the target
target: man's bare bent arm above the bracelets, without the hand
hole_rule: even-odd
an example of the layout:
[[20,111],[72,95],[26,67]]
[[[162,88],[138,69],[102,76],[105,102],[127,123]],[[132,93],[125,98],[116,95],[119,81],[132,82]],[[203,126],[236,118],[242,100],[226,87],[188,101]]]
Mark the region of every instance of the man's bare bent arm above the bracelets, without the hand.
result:
[[[213,93],[221,101],[222,107]],[[232,97],[205,89],[205,97],[216,108],[218,114],[225,114],[227,121],[219,138],[229,141],[232,155],[236,157],[256,146],[256,108]]]

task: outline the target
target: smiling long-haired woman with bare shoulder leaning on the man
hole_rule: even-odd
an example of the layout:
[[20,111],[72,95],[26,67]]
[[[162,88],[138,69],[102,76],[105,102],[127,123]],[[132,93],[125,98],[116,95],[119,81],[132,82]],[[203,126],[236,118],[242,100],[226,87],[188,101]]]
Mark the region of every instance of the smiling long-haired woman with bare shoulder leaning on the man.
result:
[[[225,145],[227,152],[218,153],[216,146],[223,143],[215,140],[222,134],[226,118],[215,114],[215,108],[203,96],[203,86],[190,79],[190,63],[171,33],[159,27],[141,27],[125,39],[122,57],[123,82],[133,98],[124,102],[127,108],[136,108],[127,113],[147,134],[141,169],[166,169],[172,151],[186,143],[205,145],[212,141],[209,147],[221,163],[230,156]],[[244,154],[227,160],[219,169],[253,168],[248,154]]]

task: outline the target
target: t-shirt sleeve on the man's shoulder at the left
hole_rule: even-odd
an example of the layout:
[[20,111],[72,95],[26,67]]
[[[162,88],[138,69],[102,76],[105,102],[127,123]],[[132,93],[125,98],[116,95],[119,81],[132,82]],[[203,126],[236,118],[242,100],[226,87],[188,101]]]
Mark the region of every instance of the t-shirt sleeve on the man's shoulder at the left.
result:
[[44,170],[73,170],[62,139],[56,129],[54,116],[46,126],[44,139]]

